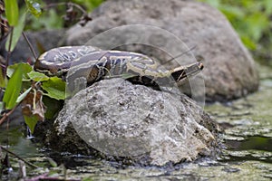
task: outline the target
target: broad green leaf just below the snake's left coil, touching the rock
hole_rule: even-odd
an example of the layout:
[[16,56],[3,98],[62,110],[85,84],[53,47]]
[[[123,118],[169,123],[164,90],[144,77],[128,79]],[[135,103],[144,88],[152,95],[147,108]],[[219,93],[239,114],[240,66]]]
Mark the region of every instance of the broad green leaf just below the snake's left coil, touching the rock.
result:
[[47,91],[44,95],[55,100],[65,99],[65,82],[58,77],[51,77],[48,81],[44,81],[42,88]]

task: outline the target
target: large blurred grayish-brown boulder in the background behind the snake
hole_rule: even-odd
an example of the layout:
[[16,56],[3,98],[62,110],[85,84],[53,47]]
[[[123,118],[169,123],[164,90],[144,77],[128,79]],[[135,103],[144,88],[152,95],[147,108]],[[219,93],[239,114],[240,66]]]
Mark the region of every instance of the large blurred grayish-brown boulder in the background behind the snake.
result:
[[[204,58],[207,100],[236,99],[258,88],[257,69],[251,55],[225,16],[209,5],[184,0],[114,0],[106,1],[93,11],[92,18],[86,26],[76,25],[68,31],[68,44],[88,43],[95,35],[124,24],[154,25],[174,33],[189,47],[197,45],[192,52]],[[134,31],[134,27],[131,29]],[[141,34],[159,48],[173,42],[161,34],[148,31]],[[106,37],[104,41],[125,44],[130,43],[127,39],[133,38],[139,37],[127,31],[113,40],[111,36]],[[177,55],[179,46],[170,43],[167,52]],[[143,45],[121,46],[121,49],[143,52],[162,62],[169,60],[167,53]],[[174,66],[170,64],[170,68]]]

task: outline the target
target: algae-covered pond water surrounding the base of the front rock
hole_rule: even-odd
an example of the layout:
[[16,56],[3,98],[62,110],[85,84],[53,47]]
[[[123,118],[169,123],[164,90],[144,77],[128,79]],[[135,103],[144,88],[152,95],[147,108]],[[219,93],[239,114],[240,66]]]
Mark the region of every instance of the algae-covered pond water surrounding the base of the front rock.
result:
[[[261,86],[256,93],[226,104],[214,103],[205,107],[225,129],[222,138],[228,148],[216,159],[203,158],[174,167],[123,167],[92,157],[41,150],[18,129],[8,132],[10,150],[42,167],[27,167],[30,177],[47,173],[46,176],[63,179],[66,176],[70,180],[271,180],[272,70],[265,67],[260,70]],[[6,145],[6,135],[6,131],[1,130],[2,145]],[[57,167],[53,167],[49,156],[57,161]],[[2,180],[16,179],[18,161],[15,157],[10,160],[14,171],[9,177],[3,175]]]

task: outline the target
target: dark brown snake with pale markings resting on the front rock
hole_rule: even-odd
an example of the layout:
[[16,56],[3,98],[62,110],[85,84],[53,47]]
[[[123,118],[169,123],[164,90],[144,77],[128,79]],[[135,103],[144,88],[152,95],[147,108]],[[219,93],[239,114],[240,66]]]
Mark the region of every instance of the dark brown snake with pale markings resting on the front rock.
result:
[[[49,76],[85,77],[87,84],[105,77],[129,75],[128,80],[143,85],[170,84],[203,69],[201,62],[163,69],[150,57],[137,52],[103,51],[92,46],[64,46],[44,52],[34,70]],[[159,83],[158,83],[159,82]]]

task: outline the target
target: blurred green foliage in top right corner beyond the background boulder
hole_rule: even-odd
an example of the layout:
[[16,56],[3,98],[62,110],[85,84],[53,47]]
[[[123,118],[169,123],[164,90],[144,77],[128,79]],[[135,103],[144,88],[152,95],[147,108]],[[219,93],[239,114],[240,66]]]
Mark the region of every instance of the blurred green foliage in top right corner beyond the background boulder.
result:
[[272,58],[271,0],[199,0],[218,8],[257,56]]

